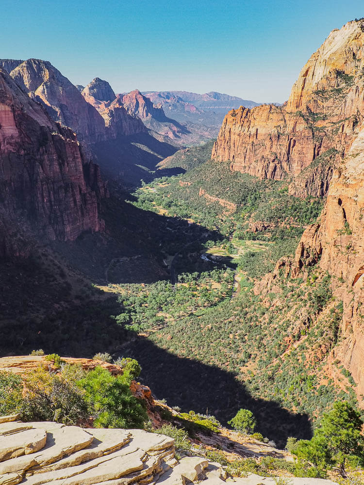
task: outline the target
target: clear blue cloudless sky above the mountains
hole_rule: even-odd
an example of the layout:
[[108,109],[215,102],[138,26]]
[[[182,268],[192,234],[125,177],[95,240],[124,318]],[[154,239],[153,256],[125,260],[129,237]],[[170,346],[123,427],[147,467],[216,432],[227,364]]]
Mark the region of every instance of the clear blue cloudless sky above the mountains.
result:
[[283,102],[363,0],[1,0],[0,57],[49,60],[74,84],[218,91]]

